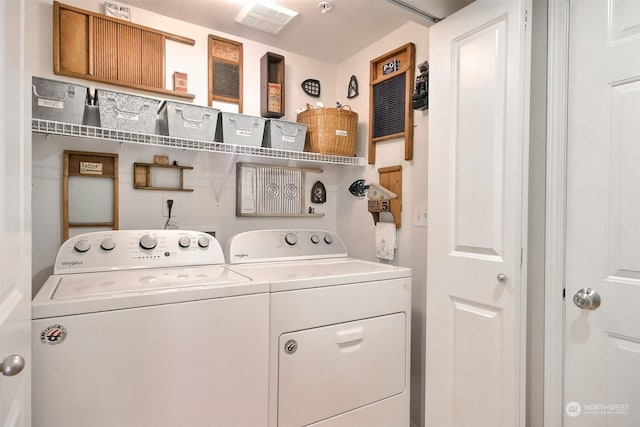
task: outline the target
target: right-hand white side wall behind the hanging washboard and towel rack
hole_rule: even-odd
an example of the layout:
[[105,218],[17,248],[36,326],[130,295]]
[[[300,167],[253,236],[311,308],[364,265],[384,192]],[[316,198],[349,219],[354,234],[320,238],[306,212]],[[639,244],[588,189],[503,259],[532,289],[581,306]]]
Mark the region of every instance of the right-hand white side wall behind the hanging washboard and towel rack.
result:
[[[338,66],[339,94],[346,95],[352,74],[357,76],[359,82],[360,95],[348,102],[360,115],[357,147],[359,156],[367,156],[370,61],[409,42],[416,46],[416,65],[429,57],[429,29],[410,22]],[[418,73],[417,69],[414,71]],[[413,85],[413,82],[411,84]],[[399,230],[399,248],[392,263],[412,268],[411,421],[419,426],[424,425],[427,228],[414,225],[413,212],[416,205],[427,203],[428,123],[428,110],[414,111],[413,160],[404,160],[404,139],[377,143],[375,165],[367,165],[364,169],[339,170],[337,194],[338,234],[347,242],[350,255],[374,260],[375,225],[373,217],[367,211],[367,200],[352,196],[348,188],[359,178],[365,179],[366,183],[378,182],[379,168],[402,166],[402,224]],[[384,218],[386,215],[381,214],[381,219],[390,221],[390,217]]]

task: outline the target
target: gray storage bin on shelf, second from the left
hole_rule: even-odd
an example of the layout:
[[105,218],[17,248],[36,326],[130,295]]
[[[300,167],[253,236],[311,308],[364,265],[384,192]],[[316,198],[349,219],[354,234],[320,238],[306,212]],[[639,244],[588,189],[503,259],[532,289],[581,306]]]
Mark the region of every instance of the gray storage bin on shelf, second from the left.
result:
[[160,101],[144,96],[96,89],[100,126],[107,129],[155,133]]

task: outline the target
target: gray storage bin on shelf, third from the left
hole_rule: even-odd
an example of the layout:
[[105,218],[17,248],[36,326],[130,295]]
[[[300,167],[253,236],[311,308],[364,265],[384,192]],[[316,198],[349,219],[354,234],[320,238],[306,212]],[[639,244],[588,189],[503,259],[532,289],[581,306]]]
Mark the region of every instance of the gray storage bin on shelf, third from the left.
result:
[[158,113],[158,129],[161,135],[213,141],[219,112],[211,107],[163,101]]

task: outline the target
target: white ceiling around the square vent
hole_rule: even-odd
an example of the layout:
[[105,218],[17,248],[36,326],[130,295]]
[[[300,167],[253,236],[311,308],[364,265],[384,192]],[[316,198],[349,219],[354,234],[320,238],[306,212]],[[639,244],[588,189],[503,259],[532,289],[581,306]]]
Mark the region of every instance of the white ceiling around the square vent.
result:
[[[160,15],[216,32],[253,40],[331,63],[340,63],[408,21],[430,26],[432,21],[387,0],[271,0],[298,12],[279,33],[270,34],[235,22],[241,0],[123,0]],[[444,18],[473,0],[404,0],[437,18]],[[135,20],[135,16],[133,17]]]

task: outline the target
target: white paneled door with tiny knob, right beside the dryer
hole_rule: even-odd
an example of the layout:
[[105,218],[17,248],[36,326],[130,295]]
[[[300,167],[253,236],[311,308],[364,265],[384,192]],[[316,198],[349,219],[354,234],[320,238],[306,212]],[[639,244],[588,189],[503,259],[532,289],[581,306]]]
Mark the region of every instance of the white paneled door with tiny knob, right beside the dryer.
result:
[[430,30],[427,426],[524,425],[528,5]]

